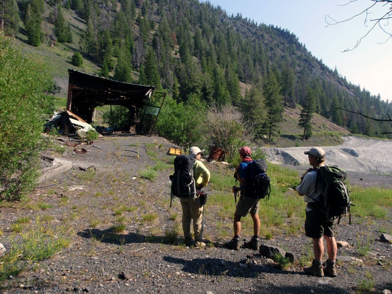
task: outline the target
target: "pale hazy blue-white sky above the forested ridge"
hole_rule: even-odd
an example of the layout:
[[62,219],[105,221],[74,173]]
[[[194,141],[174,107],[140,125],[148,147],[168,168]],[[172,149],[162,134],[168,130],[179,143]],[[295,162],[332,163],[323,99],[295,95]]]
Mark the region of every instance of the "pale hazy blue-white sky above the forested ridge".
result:
[[[351,49],[374,22],[364,25],[364,16],[348,22],[326,27],[325,16],[340,21],[363,11],[373,2],[357,0],[345,6],[349,0],[210,0],[215,7],[221,6],[229,16],[242,14],[258,24],[280,26],[294,33],[313,56],[322,59],[332,70],[345,76],[347,81],[366,88],[372,95],[380,94],[383,100],[392,101],[392,38],[377,26],[361,41],[358,48]],[[368,19],[385,14],[389,7],[377,3]],[[378,13],[377,13],[378,11]],[[392,24],[386,27],[392,32]]]

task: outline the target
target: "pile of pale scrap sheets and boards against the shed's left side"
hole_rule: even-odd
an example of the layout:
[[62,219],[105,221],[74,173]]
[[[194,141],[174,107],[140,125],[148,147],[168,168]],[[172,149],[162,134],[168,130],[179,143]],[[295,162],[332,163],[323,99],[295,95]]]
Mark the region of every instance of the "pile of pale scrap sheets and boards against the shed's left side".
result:
[[91,124],[66,109],[63,112],[55,113],[45,124],[47,133],[52,129],[56,129],[58,133],[63,135],[78,135],[81,138],[86,137],[89,130],[95,131]]

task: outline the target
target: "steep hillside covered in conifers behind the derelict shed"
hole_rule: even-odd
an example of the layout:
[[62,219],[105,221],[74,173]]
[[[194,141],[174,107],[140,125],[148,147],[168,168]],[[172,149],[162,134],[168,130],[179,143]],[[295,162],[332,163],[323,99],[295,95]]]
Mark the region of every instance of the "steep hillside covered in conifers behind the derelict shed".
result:
[[[382,134],[391,132],[391,123],[336,111],[387,119],[391,103],[326,67],[288,29],[228,16],[209,2],[2,0],[0,9],[2,30],[21,32],[36,47],[78,42],[83,59],[97,64],[101,76],[154,85],[184,107],[238,106],[256,137],[271,138],[283,106],[300,104],[304,139],[312,135],[306,131],[312,112],[353,133],[392,138]],[[72,28],[74,22],[63,17],[70,10],[84,20],[81,27]],[[80,66],[74,55],[73,64]],[[251,89],[245,96],[244,84]]]

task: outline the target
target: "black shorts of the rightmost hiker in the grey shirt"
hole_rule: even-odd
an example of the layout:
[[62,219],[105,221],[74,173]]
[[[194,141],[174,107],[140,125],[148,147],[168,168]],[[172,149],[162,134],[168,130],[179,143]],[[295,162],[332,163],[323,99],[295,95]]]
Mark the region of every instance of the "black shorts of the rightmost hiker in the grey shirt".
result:
[[326,220],[325,213],[318,209],[306,212],[305,235],[314,239],[321,239],[322,236],[335,237],[336,223],[338,219]]

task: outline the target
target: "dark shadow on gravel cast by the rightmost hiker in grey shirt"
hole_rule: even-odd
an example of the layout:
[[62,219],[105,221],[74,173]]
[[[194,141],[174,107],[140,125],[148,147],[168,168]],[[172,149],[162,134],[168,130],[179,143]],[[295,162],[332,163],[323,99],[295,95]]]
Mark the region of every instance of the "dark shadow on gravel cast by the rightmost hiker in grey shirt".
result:
[[182,271],[190,274],[203,274],[210,276],[226,275],[230,277],[257,278],[259,273],[280,273],[280,274],[304,274],[281,270],[276,265],[247,265],[238,262],[227,261],[220,258],[195,258],[186,260],[172,256],[164,256],[163,260],[173,264],[182,264]]

